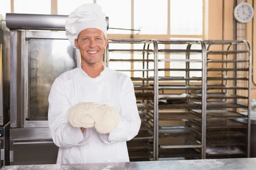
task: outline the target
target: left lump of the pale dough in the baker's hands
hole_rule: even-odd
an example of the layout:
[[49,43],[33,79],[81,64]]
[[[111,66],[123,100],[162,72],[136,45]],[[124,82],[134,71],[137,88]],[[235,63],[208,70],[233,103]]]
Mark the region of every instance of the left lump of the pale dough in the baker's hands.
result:
[[80,102],[67,111],[67,118],[73,127],[90,128],[94,125],[94,119],[90,116],[93,112],[93,104]]

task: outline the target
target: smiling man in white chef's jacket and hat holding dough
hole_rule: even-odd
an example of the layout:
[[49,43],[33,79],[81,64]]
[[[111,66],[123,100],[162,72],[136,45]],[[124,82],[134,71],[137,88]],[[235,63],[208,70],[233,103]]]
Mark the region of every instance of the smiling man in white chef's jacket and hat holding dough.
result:
[[[108,45],[105,14],[95,3],[84,4],[67,17],[65,28],[81,53],[81,65],[57,77],[49,94],[49,130],[59,147],[57,164],[127,162],[126,141],[138,134],[141,121],[131,78],[102,62]],[[94,127],[73,127],[67,110],[79,102],[108,104],[119,111],[120,121],[106,134]]]

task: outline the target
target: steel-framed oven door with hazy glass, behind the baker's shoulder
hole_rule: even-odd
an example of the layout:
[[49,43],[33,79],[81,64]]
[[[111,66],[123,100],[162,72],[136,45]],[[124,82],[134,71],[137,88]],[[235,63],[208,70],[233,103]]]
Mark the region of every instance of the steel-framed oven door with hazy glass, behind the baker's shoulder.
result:
[[25,127],[48,127],[48,96],[54,80],[78,67],[78,51],[63,31],[26,31]]

